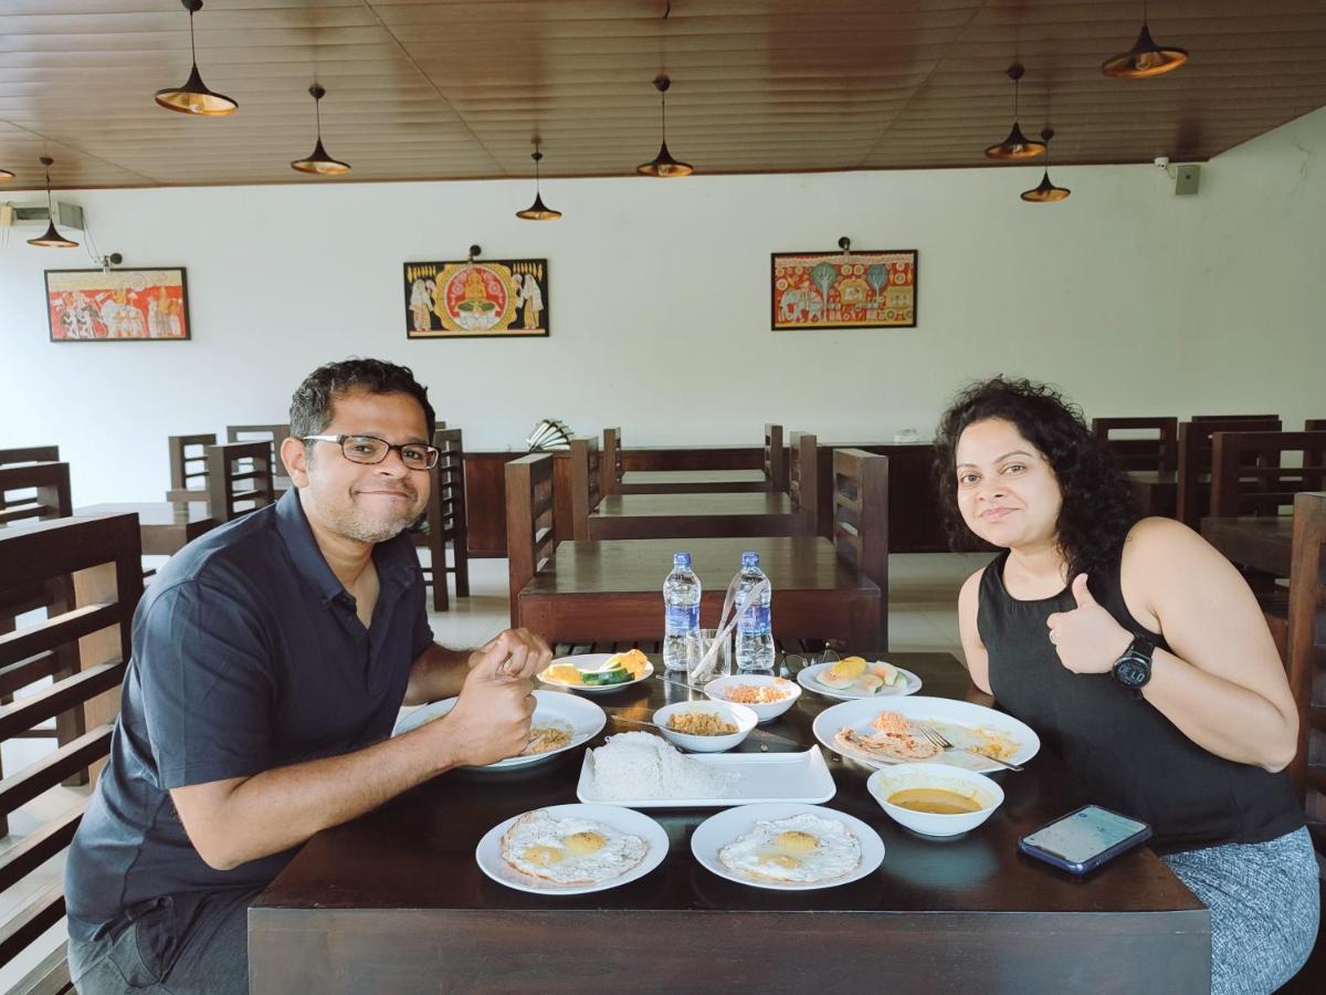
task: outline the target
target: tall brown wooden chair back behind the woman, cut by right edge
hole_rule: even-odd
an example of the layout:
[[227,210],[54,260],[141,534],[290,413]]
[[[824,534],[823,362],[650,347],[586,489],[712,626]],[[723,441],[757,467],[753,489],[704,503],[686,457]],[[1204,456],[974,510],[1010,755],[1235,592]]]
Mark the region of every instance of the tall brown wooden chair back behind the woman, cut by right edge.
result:
[[[1294,495],[1294,540],[1289,574],[1289,690],[1298,706],[1298,752],[1289,765],[1290,777],[1306,792],[1314,823],[1326,817],[1326,754],[1309,750],[1309,736],[1326,728],[1326,706],[1313,703],[1313,687],[1326,682],[1326,494]],[[1315,744],[1314,744],[1315,746]],[[1307,777],[1309,764],[1313,777]],[[1309,784],[1315,784],[1311,787]]]

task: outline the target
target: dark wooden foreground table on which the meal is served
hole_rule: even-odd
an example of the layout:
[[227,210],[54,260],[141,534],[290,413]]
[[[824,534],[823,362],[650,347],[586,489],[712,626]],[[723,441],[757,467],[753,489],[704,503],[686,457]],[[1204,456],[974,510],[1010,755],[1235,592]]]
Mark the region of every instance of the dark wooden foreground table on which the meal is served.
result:
[[[948,654],[890,659],[923,694],[987,703]],[[658,679],[594,700],[647,718],[690,693]],[[831,699],[804,694],[761,726],[809,746]],[[614,731],[609,726],[607,731]],[[597,742],[594,743],[597,746]],[[785,747],[753,732],[744,751]],[[879,870],[838,888],[772,892],[711,874],[691,856],[716,809],[646,809],[663,864],[581,896],[516,892],[475,861],[503,820],[572,803],[583,750],[509,771],[457,771],[314,836],[249,909],[249,986],[288,992],[1205,992],[1207,909],[1148,849],[1085,880],[1018,854],[1017,840],[1090,800],[1042,751],[998,773],[1004,805],[951,840],[914,834],[831,760],[827,804],[883,838]]]

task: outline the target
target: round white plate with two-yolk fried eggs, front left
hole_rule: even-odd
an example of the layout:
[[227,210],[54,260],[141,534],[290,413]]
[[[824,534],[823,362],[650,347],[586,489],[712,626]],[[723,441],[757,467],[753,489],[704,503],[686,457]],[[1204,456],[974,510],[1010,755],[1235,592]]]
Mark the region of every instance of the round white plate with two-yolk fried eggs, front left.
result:
[[479,841],[475,860],[507,888],[585,894],[644,877],[667,848],[667,830],[634,809],[549,805],[495,825]]

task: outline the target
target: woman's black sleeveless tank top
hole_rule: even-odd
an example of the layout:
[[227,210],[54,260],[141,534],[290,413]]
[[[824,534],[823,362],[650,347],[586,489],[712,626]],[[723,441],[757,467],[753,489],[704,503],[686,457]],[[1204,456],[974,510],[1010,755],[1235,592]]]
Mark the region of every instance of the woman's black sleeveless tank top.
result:
[[[1110,674],[1065,667],[1045,620],[1077,608],[1073,592],[1018,601],[1004,588],[1006,560],[1005,551],[985,568],[980,585],[977,629],[989,653],[991,690],[1063,759],[1094,803],[1148,823],[1160,853],[1262,842],[1303,825],[1286,772],[1219,758]],[[1167,649],[1128,613],[1120,561],[1122,553],[1113,570],[1093,574],[1093,594],[1124,629]]]

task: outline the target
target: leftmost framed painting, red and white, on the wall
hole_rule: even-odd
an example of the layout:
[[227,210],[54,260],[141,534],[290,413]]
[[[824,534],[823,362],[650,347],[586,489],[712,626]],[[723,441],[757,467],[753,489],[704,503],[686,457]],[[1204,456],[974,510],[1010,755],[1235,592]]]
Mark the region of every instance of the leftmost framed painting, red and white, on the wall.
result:
[[48,269],[46,321],[52,342],[186,341],[184,268]]

